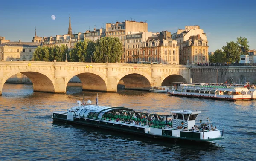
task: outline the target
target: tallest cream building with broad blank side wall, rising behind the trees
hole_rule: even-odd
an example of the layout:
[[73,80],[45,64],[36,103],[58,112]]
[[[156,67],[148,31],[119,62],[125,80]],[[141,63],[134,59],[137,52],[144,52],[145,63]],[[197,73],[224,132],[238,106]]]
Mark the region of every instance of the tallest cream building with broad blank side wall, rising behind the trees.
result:
[[141,32],[148,32],[148,23],[128,20],[122,23],[106,23],[106,37],[118,37],[123,44],[123,54],[120,63],[125,63],[127,60],[125,58],[125,35]]

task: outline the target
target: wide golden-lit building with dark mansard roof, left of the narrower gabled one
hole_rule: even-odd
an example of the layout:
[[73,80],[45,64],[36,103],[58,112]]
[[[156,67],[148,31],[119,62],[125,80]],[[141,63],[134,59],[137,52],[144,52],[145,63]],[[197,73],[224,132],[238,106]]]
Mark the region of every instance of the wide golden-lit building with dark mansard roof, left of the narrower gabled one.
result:
[[146,42],[142,42],[140,53],[140,61],[179,64],[179,46],[177,46],[176,40],[172,40],[171,33],[168,31],[160,32],[157,36],[148,37]]

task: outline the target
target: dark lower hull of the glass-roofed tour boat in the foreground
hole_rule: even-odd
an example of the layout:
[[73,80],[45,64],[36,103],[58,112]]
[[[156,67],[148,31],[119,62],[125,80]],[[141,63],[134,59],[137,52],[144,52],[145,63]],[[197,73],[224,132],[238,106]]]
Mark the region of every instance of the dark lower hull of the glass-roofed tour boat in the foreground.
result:
[[123,132],[123,133],[128,133],[128,134],[135,134],[135,135],[140,135],[143,137],[148,137],[148,138],[157,138],[157,139],[162,139],[162,140],[168,140],[168,141],[178,141],[178,142],[184,142],[186,143],[189,142],[202,142],[202,143],[207,143],[209,141],[214,141],[214,140],[221,140],[224,139],[222,138],[210,138],[210,139],[198,139],[198,138],[186,138],[186,137],[174,137],[174,136],[166,136],[166,135],[154,135],[151,133],[145,133],[145,126],[129,126],[123,125],[123,124],[117,124],[117,122],[114,121],[109,121],[105,122],[102,120],[92,120],[92,119],[87,119],[87,118],[74,118],[74,121],[72,120],[67,120],[64,117],[63,118],[53,118],[53,121],[60,121],[60,122],[65,122],[69,124],[80,124],[84,126],[91,126],[95,128],[101,128],[101,129],[107,129],[107,130],[114,130],[118,132]]

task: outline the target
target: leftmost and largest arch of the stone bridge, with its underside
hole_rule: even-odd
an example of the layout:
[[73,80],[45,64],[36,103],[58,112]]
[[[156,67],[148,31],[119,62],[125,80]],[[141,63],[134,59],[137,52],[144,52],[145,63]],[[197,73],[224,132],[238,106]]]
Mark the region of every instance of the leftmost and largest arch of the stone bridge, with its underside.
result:
[[[34,71],[33,69],[29,70],[17,70],[14,72],[9,72],[6,75],[4,75],[3,80],[2,80],[2,86],[1,88],[3,88],[4,83],[6,83],[6,81],[11,78],[13,75],[16,75],[18,73],[21,73],[23,75],[26,75],[31,82],[33,83],[33,91],[34,92],[49,92],[49,93],[54,93],[55,92],[55,87],[54,87],[54,83],[52,82],[52,80],[54,80],[54,78],[52,77],[52,75],[48,74],[45,71]],[[2,91],[2,89],[1,89]]]

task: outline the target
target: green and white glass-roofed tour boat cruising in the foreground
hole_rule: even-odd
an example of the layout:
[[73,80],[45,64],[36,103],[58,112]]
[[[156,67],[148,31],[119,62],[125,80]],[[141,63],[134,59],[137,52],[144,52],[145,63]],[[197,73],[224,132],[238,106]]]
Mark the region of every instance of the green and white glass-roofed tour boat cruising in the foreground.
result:
[[[84,102],[84,101],[83,101]],[[53,112],[53,121],[81,124],[102,129],[142,135],[151,138],[167,139],[171,141],[207,142],[224,139],[216,127],[213,128],[207,118],[206,124],[196,125],[196,119],[201,111],[172,111],[170,115],[148,114],[135,112],[125,107],[110,107],[87,104],[67,109],[67,111]]]

